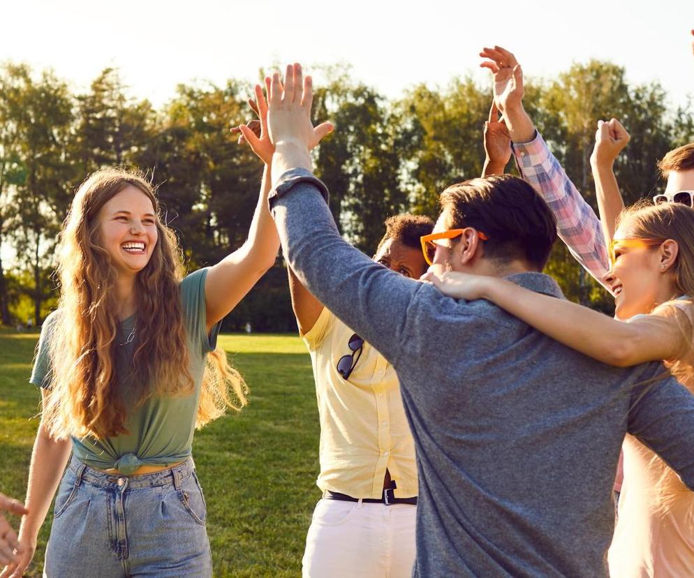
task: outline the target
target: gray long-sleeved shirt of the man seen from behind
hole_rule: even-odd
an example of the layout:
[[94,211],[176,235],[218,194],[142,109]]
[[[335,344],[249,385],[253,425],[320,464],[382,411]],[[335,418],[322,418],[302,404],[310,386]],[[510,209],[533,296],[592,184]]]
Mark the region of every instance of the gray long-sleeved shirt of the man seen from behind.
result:
[[[304,286],[392,362],[415,438],[422,577],[605,576],[628,431],[694,489],[694,397],[662,364],[600,364],[486,301],[446,297],[346,244],[305,170],[270,198]],[[539,273],[508,279],[563,298]]]

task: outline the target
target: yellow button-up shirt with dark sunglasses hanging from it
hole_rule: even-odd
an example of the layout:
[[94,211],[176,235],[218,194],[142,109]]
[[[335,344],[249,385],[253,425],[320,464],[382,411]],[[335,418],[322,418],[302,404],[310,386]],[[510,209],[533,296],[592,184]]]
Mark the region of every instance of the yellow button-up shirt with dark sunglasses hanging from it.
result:
[[324,308],[303,335],[320,414],[318,487],[354,498],[380,498],[387,468],[397,484],[395,497],[416,496],[415,445],[393,366],[364,343],[349,379],[337,372],[340,357],[352,353],[348,341],[353,334]]

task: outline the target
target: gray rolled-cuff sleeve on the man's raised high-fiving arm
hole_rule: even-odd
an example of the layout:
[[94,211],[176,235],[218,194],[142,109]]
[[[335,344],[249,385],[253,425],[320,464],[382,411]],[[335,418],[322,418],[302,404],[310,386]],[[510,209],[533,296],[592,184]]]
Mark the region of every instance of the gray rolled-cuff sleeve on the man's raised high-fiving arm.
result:
[[348,327],[394,363],[408,308],[423,284],[369,259],[340,237],[327,189],[307,170],[282,175],[270,211],[299,280]]

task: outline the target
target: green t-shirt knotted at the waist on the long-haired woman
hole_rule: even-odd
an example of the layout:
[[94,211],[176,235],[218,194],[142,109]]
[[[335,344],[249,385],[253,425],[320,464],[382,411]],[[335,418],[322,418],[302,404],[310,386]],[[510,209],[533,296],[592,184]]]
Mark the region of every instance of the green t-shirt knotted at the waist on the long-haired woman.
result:
[[[188,396],[154,395],[137,405],[137,392],[129,394],[130,383],[118,383],[126,404],[125,428],[129,434],[112,438],[75,438],[73,452],[77,459],[100,470],[116,468],[124,474],[133,473],[143,465],[176,464],[191,455],[195,415],[200,401],[202,373],[207,353],[216,347],[220,323],[206,332],[205,277],[207,269],[186,276],[179,286],[183,304],[184,323],[188,333],[190,371],[195,390]],[[57,311],[43,323],[38,342],[34,371],[29,380],[39,387],[50,385],[49,344]],[[133,332],[134,329],[134,332]],[[138,342],[137,314],[121,321],[116,336],[119,343],[116,357],[116,375],[130,373],[135,346]],[[59,347],[59,346],[58,346]],[[133,387],[133,389],[135,389]],[[129,399],[128,399],[129,398]]]

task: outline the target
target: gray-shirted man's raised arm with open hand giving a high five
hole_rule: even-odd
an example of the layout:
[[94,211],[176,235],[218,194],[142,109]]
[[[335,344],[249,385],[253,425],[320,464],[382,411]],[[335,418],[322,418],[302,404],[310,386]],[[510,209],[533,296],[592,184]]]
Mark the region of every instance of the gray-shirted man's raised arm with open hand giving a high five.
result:
[[[422,284],[390,271],[347,244],[311,175],[311,80],[289,66],[274,75],[268,124],[276,149],[270,195],[282,248],[299,281],[337,317],[393,362],[402,353],[407,311]],[[277,177],[275,177],[277,178]],[[323,193],[323,194],[321,194]]]

